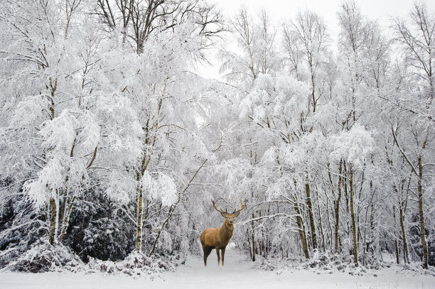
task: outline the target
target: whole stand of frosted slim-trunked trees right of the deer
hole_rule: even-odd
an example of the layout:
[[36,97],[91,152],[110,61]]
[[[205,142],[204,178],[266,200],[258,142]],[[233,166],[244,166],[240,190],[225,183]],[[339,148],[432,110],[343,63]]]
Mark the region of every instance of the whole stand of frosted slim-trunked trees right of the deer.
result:
[[376,267],[388,251],[434,265],[433,11],[416,2],[382,28],[345,1],[335,41],[309,10],[253,15],[231,23],[242,53],[222,51],[240,89],[237,150],[222,158],[240,166],[252,260],[317,251]]

